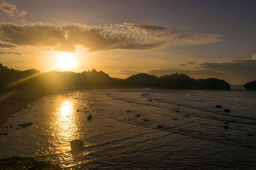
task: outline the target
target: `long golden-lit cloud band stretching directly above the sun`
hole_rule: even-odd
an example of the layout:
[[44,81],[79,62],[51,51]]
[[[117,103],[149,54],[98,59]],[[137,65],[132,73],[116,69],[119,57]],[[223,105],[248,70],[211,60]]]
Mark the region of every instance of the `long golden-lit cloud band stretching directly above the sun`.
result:
[[0,40],[4,43],[66,52],[74,52],[76,45],[82,45],[93,52],[112,49],[148,50],[162,45],[195,45],[221,41],[220,36],[215,34],[194,34],[179,29],[134,24],[18,25],[2,22],[0,35]]

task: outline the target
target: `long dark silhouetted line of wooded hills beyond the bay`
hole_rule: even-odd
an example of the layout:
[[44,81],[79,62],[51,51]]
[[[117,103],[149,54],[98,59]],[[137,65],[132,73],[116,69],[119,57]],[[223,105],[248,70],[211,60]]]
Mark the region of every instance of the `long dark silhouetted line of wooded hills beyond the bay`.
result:
[[40,89],[61,91],[97,87],[156,87],[164,89],[209,89],[230,90],[230,85],[216,78],[195,80],[186,74],[171,74],[157,77],[145,73],[126,79],[111,78],[102,71],[50,71],[41,73],[35,69],[19,71],[0,64],[0,89]]

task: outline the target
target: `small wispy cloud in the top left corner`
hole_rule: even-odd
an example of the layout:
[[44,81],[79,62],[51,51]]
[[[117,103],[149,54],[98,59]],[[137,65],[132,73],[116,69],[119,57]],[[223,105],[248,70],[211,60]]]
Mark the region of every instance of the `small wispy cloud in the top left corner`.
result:
[[10,17],[19,18],[24,17],[27,14],[26,11],[20,11],[15,5],[4,1],[0,2],[0,10],[9,15]]

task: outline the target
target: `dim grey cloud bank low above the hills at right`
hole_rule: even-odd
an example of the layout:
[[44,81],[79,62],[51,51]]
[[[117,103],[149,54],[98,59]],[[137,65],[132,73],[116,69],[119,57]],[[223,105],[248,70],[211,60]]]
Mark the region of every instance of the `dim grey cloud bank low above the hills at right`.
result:
[[243,85],[256,80],[256,60],[232,60],[230,62],[204,62],[192,69],[157,69],[150,74],[184,73],[193,78],[215,77],[228,81],[232,85]]

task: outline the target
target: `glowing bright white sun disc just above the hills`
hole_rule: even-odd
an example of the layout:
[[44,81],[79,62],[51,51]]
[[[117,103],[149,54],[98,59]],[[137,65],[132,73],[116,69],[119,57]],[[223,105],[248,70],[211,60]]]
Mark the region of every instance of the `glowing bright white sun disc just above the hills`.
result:
[[61,69],[73,69],[76,66],[76,58],[72,53],[61,53],[58,59],[58,67]]

